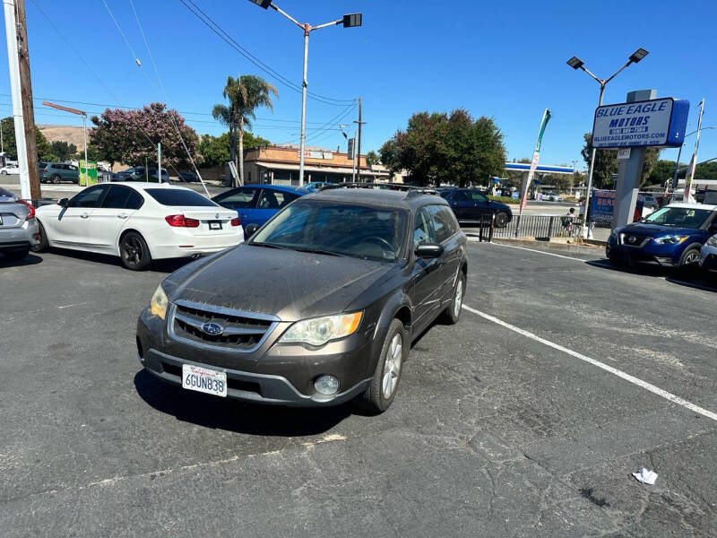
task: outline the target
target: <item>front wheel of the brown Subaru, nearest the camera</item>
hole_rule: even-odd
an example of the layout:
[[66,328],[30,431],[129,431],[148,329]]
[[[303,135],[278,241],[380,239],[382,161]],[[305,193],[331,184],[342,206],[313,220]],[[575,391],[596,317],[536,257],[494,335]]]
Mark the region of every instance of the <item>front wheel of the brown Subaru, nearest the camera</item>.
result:
[[[397,349],[397,346],[400,348]],[[408,358],[409,347],[406,327],[400,320],[394,319],[386,332],[371,384],[366,392],[357,398],[359,407],[376,414],[389,408],[398,391],[403,363]]]

